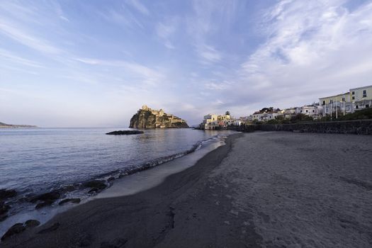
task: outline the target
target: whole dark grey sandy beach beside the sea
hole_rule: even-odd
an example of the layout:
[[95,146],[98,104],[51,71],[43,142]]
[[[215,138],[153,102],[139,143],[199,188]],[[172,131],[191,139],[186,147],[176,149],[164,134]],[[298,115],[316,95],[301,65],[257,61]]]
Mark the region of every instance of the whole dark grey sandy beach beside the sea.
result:
[[233,135],[164,183],[0,247],[372,247],[372,138]]

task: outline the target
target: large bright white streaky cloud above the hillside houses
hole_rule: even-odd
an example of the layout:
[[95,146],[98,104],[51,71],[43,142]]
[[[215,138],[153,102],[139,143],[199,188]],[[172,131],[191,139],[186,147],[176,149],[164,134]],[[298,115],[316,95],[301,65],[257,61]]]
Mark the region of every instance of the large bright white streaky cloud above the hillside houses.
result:
[[266,11],[266,41],[241,64],[235,89],[291,107],[370,84],[372,4],[350,11],[345,3],[280,1]]

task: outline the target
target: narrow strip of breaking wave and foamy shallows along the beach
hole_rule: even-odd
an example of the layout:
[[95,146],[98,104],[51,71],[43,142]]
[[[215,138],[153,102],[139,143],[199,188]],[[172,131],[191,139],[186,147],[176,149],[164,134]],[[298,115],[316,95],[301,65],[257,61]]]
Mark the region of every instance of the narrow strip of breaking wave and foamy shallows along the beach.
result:
[[[233,131],[230,131],[232,133]],[[230,134],[225,134],[230,135]],[[191,147],[187,148],[187,150],[182,150],[181,152],[170,154],[164,157],[157,157],[156,159],[150,159],[147,162],[142,162],[139,164],[135,164],[131,167],[127,167],[125,169],[115,169],[113,171],[106,171],[101,174],[97,174],[92,176],[90,179],[85,179],[84,181],[75,181],[70,184],[61,184],[60,186],[55,186],[52,188],[48,188],[45,191],[35,192],[33,194],[27,194],[23,191],[18,191],[17,196],[11,198],[8,205],[11,205],[11,211],[13,211],[5,220],[0,222],[0,237],[4,235],[6,230],[9,230],[9,227],[14,225],[17,222],[25,222],[29,219],[36,219],[40,221],[42,224],[45,223],[46,220],[49,220],[50,215],[55,215],[55,213],[63,212],[66,209],[72,208],[75,204],[64,204],[59,205],[61,201],[69,200],[69,199],[77,199],[81,201],[81,203],[86,203],[87,201],[91,201],[92,199],[96,198],[101,193],[102,189],[99,189],[96,193],[90,193],[89,190],[93,190],[94,188],[89,188],[85,186],[86,183],[89,182],[97,182],[99,183],[98,186],[101,184],[105,185],[105,191],[111,188],[113,185],[116,184],[117,181],[124,179],[127,176],[136,174],[140,171],[146,171],[147,169],[152,169],[157,167],[160,164],[169,163],[174,159],[180,159],[188,154],[193,154],[198,150],[209,150],[209,147],[215,146],[213,144],[218,144],[221,140],[225,139],[225,135],[213,135],[211,137],[205,138],[203,140],[199,140],[198,142],[194,143]],[[198,152],[203,153],[203,152]],[[191,155],[193,156],[193,155]],[[11,189],[11,188],[8,188]],[[53,199],[52,207],[50,208],[49,205],[46,208],[39,208],[35,209],[36,203],[29,203],[28,199],[40,196],[44,193],[59,193],[59,197],[57,199]],[[26,199],[26,201],[25,201]],[[43,201],[40,201],[43,203]],[[18,205],[17,205],[18,204]],[[21,209],[23,208],[23,209]]]

